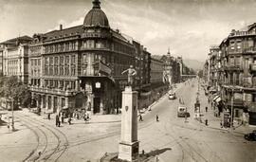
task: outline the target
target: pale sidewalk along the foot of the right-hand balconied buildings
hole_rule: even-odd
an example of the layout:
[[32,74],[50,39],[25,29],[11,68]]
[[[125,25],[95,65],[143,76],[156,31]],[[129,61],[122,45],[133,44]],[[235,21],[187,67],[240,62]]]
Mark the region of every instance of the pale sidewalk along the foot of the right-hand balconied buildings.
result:
[[[205,96],[204,89],[200,86],[200,94],[199,94],[199,99],[200,99],[200,107],[201,107],[201,120],[202,120],[202,125],[205,127],[208,127],[210,129],[216,129],[220,131],[227,131],[232,134],[240,134],[240,135],[245,135],[247,133],[252,132],[256,128],[249,127],[249,126],[244,126],[241,124],[238,124],[236,121],[234,121],[234,129],[230,128],[221,128],[220,122],[222,120],[222,117],[214,117],[214,110],[211,108],[210,104],[208,103],[208,98]],[[208,107],[208,112],[206,112],[206,107]],[[208,126],[205,125],[205,120],[208,119]],[[198,120],[198,122],[200,122]]]

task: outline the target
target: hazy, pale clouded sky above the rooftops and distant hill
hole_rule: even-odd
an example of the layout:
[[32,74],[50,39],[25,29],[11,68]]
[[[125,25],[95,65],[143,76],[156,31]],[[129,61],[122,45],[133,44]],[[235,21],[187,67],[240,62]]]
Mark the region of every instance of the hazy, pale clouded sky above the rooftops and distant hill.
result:
[[[92,0],[0,0],[0,42],[82,25]],[[256,23],[256,0],[101,0],[110,27],[152,55],[204,62],[231,29]]]

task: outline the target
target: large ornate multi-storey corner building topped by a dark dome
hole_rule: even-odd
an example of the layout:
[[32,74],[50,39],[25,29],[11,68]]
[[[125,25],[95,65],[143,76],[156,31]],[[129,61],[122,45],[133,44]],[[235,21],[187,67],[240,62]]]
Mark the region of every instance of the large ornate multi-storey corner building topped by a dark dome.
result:
[[150,91],[150,53],[143,45],[113,30],[101,10],[93,8],[82,26],[34,34],[29,45],[32,103],[42,112],[87,110],[111,114],[121,107],[127,74],[137,69],[135,90]]

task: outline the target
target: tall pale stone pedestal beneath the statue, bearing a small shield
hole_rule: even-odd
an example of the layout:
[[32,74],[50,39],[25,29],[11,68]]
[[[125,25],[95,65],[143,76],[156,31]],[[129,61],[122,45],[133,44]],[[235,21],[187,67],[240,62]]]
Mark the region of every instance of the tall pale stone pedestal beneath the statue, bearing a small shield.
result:
[[137,156],[137,91],[126,86],[122,92],[119,159],[133,161]]

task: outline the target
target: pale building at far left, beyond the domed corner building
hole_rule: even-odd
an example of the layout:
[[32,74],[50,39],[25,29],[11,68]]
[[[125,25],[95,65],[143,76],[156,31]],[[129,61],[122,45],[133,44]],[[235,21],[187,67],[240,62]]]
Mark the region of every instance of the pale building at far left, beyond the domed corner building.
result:
[[30,37],[22,36],[1,43],[3,46],[2,71],[4,76],[17,76],[19,81],[27,83],[28,44],[30,42]]

